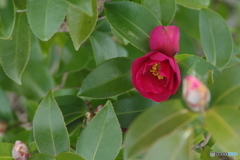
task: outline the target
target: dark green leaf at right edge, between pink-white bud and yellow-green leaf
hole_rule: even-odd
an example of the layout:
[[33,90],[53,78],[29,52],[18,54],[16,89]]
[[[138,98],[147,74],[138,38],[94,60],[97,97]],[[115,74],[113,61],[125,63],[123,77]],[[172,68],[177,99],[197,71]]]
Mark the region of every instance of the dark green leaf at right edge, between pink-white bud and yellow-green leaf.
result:
[[[238,107],[240,104],[240,65],[230,67],[222,72],[211,86],[211,106],[231,105]],[[221,86],[221,87],[219,87]]]

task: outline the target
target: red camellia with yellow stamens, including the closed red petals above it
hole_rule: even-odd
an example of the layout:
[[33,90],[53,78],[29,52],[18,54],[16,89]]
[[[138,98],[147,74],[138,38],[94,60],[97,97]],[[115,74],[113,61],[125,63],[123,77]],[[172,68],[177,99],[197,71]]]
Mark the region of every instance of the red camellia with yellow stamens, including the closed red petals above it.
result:
[[173,58],[179,51],[178,43],[178,27],[158,26],[152,31],[152,52],[132,64],[132,82],[142,96],[162,102],[176,93],[181,82],[180,70]]

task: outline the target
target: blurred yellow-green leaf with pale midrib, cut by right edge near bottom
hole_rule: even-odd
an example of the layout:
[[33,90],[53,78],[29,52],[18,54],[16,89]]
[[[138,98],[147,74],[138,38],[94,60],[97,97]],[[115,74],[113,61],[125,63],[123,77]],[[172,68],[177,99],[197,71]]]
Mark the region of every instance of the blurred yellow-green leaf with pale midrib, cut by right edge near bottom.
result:
[[229,106],[215,107],[208,110],[205,115],[208,130],[224,152],[239,152],[239,117],[240,111]]

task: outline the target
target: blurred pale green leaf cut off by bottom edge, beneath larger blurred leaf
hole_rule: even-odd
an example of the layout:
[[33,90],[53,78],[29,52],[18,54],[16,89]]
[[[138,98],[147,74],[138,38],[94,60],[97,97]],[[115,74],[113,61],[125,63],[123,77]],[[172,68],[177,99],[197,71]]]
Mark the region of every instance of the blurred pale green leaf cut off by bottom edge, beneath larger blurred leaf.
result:
[[144,160],[193,160],[193,130],[187,128],[157,141]]

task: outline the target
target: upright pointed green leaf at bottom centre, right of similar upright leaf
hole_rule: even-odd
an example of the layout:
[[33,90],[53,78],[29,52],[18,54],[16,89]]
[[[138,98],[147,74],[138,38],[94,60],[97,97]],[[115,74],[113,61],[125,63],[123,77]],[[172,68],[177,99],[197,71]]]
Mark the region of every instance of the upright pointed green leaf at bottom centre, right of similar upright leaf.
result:
[[108,101],[82,131],[76,152],[87,160],[113,160],[121,145],[120,125],[112,104]]

